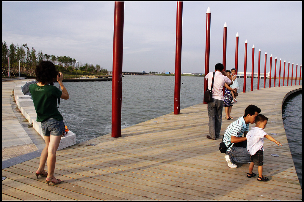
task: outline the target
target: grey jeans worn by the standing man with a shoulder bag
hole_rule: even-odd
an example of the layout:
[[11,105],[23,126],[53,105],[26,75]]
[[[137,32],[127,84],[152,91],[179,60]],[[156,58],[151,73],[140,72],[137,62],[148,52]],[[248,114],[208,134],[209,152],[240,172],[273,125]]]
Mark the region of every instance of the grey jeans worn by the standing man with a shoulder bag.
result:
[[222,128],[222,114],[223,114],[223,100],[212,99],[213,102],[208,103],[208,117],[209,117],[209,135],[215,140],[219,138],[219,133]]

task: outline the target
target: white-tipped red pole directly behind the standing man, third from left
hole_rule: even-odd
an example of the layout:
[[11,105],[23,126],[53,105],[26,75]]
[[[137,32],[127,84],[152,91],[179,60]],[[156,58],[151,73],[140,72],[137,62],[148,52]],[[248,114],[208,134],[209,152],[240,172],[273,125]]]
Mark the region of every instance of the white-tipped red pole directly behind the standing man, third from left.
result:
[[[205,76],[209,73],[209,53],[210,53],[210,21],[211,21],[211,11],[208,7],[206,12],[206,49],[205,49]],[[208,81],[204,79],[204,92],[208,87]],[[204,102],[204,104],[207,104]]]

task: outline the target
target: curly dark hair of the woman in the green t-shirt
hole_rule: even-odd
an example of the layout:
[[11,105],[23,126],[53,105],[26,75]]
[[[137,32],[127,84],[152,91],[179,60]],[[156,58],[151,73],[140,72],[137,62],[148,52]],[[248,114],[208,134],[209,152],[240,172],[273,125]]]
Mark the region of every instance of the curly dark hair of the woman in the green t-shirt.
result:
[[41,61],[35,69],[35,79],[42,84],[54,82],[57,79],[58,71],[55,65],[50,61]]

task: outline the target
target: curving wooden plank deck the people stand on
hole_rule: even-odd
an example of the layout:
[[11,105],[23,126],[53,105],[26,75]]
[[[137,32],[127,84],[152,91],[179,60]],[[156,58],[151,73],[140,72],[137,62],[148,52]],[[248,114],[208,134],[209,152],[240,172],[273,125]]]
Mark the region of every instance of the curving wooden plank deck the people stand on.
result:
[[[55,176],[47,186],[36,179],[39,158],[2,170],[2,200],[302,200],[282,121],[282,100],[301,86],[239,93],[234,120],[249,104],[269,118],[265,131],[282,143],[265,140],[263,175],[247,178],[249,164],[229,168],[218,140],[209,140],[207,105],[197,104],[130,126],[111,135],[57,152]],[[232,122],[223,111],[222,132]],[[250,127],[254,126],[250,124]],[[96,144],[96,146],[89,146]],[[271,154],[278,154],[273,157]],[[47,170],[47,168],[46,168]],[[254,167],[257,173],[257,167]]]

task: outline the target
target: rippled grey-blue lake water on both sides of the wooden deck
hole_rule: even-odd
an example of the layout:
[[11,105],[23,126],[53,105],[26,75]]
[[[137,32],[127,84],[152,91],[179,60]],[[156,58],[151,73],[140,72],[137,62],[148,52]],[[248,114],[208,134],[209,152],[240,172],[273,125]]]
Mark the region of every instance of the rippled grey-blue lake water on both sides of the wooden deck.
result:
[[[243,92],[244,78],[238,78]],[[271,79],[271,87],[274,80]],[[289,80],[290,85],[291,80]],[[293,80],[293,85],[294,85]],[[298,84],[299,81],[297,81]],[[246,92],[251,79],[246,80]],[[56,85],[56,84],[55,84]],[[57,84],[58,85],[58,84]],[[60,100],[59,111],[77,142],[111,133],[112,82],[65,82],[70,99]],[[283,80],[281,80],[281,86]],[[287,79],[285,79],[287,85]],[[260,89],[264,79],[260,79]],[[278,86],[278,79],[276,79]],[[266,88],[269,79],[266,79]],[[204,77],[181,77],[181,109],[203,102]],[[254,87],[257,89],[257,79]],[[122,128],[173,112],[174,76],[124,76],[122,89]],[[285,107],[285,106],[284,106]],[[302,181],[302,94],[286,102],[284,126],[288,143]],[[294,123],[297,123],[294,128]],[[292,126],[292,128],[290,127]],[[302,182],[301,182],[302,186]]]

